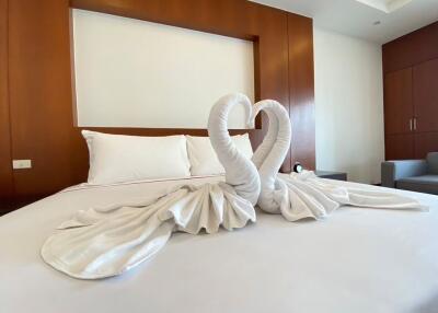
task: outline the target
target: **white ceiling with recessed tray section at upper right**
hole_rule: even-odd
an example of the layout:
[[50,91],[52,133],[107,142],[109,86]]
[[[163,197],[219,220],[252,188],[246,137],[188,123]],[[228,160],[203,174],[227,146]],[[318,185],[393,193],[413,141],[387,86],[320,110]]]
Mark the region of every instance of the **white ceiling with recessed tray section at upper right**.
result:
[[[313,18],[318,27],[379,44],[438,21],[438,0],[252,1]],[[373,25],[377,21],[380,24]]]

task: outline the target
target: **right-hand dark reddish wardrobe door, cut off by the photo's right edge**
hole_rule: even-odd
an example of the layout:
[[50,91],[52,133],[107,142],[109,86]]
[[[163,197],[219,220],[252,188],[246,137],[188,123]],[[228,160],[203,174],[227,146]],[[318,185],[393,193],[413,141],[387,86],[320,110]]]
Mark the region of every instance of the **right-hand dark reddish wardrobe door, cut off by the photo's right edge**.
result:
[[414,68],[416,131],[438,131],[438,59]]

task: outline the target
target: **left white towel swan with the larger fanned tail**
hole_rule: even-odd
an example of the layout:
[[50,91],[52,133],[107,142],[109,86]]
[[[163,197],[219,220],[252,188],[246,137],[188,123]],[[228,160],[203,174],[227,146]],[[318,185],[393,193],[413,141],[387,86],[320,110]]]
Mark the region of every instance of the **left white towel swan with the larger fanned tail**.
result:
[[250,100],[234,94],[220,98],[208,120],[226,183],[185,185],[141,204],[79,211],[48,237],[42,247],[43,259],[74,278],[105,278],[152,257],[175,231],[215,233],[220,227],[231,231],[255,222],[260,176],[251,160],[234,147],[227,128],[229,112],[237,104],[245,106],[250,118]]

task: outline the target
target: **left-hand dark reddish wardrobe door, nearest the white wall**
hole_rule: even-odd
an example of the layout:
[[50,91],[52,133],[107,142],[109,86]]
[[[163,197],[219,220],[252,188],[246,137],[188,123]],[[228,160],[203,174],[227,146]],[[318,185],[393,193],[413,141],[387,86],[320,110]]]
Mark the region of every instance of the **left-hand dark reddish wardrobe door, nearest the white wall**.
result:
[[384,127],[387,135],[411,132],[414,116],[412,103],[412,68],[384,77]]

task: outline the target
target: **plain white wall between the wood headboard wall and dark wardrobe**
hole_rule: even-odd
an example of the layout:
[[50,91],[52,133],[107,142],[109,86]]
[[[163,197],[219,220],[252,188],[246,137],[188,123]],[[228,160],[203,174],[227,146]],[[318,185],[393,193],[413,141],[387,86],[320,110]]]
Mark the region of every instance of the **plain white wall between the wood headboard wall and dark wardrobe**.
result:
[[384,159],[381,46],[314,28],[316,167],[380,183]]

